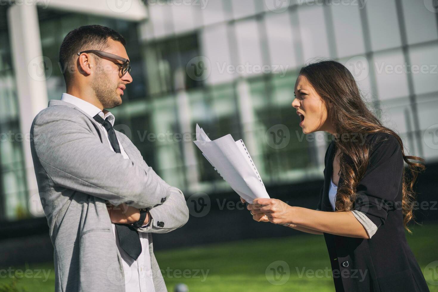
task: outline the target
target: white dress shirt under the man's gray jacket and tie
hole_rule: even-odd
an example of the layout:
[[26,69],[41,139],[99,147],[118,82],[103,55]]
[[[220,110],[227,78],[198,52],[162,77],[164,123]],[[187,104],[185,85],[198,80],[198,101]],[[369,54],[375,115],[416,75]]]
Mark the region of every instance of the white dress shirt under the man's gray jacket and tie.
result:
[[[63,93],[61,96],[61,100],[77,106],[83,112],[88,114],[88,116],[91,116],[91,118],[99,114],[99,116],[101,116],[103,120],[108,120],[111,123],[111,125],[114,125],[115,117],[113,116],[112,113],[108,112],[104,114],[98,107],[92,105],[89,102],[86,102],[83,99],[79,99],[73,95]],[[113,150],[113,147],[109,142],[108,132],[106,131],[105,127],[103,127],[102,124],[99,123],[99,126],[102,128],[103,132],[106,135],[109,148]],[[120,142],[119,142],[119,146],[123,158],[129,159],[128,155],[124,151],[123,146],[120,144]],[[151,257],[149,254],[148,235],[143,232],[138,232],[141,242],[141,254],[138,256],[137,260],[134,260],[124,250],[120,248],[116,225],[114,225],[113,223],[112,225],[113,225],[113,233],[116,239],[116,245],[117,248],[119,249],[123,261],[123,269],[125,274],[125,291],[155,292],[154,282],[152,281]]]

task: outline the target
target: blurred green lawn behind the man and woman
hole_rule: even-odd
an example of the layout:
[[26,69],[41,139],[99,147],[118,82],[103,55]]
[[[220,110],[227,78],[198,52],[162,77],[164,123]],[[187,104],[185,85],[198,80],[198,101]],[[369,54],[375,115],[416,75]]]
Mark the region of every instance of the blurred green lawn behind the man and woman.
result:
[[[438,260],[437,227],[437,224],[431,223],[416,225],[413,235],[407,235],[423,271],[427,264]],[[187,284],[190,292],[334,291],[333,280],[327,276],[330,263],[322,236],[302,234],[286,238],[242,240],[157,251],[155,256],[169,291],[173,291],[177,283]],[[29,292],[53,291],[53,264],[31,264],[19,268],[33,271],[44,269],[46,274],[47,271],[50,274],[47,281],[44,281],[43,273],[38,279],[17,279],[18,287],[25,287]],[[272,271],[277,272],[276,278]],[[432,280],[431,274],[425,274],[425,277]],[[10,282],[10,278],[0,277],[0,286]],[[283,285],[278,285],[283,282]],[[435,283],[438,284],[438,281]],[[428,284],[431,291],[438,292],[438,285]]]

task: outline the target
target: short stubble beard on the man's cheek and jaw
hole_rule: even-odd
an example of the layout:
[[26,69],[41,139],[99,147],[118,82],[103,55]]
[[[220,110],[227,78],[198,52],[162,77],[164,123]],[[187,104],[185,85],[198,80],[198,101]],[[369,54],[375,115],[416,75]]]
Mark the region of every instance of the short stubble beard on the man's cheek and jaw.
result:
[[104,109],[112,109],[122,104],[116,84],[103,71],[95,75],[91,88]]

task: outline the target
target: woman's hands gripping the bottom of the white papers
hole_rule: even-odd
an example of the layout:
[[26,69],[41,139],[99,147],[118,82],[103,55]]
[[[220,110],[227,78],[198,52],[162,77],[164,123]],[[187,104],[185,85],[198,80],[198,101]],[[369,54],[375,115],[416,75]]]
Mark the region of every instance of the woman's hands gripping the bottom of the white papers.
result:
[[[256,198],[252,204],[247,206],[247,209],[251,211],[253,218],[262,218],[264,215],[266,215],[269,222],[275,224],[288,225],[292,223],[293,208],[278,199]],[[256,218],[254,218],[254,220],[261,221],[260,219],[257,220]]]

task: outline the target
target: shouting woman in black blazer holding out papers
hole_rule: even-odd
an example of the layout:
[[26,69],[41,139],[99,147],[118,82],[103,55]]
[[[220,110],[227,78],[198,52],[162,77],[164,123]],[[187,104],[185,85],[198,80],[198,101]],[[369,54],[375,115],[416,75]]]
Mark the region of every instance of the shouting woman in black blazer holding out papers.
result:
[[[326,131],[324,186],[317,210],[277,199],[247,206],[254,220],[323,234],[336,291],[429,291],[404,229],[424,162],[367,109],[350,71],[336,61],[301,68],[292,106],[304,134]],[[406,162],[405,169],[403,161]]]

